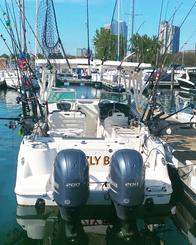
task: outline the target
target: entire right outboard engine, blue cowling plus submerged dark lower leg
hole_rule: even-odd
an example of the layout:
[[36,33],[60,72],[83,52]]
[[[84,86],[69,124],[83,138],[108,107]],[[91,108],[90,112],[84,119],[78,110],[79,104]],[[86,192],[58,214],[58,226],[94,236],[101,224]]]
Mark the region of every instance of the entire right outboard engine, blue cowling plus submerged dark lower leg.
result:
[[132,239],[137,234],[135,210],[144,201],[145,167],[141,154],[131,149],[116,151],[110,162],[109,183],[118,217],[113,233]]

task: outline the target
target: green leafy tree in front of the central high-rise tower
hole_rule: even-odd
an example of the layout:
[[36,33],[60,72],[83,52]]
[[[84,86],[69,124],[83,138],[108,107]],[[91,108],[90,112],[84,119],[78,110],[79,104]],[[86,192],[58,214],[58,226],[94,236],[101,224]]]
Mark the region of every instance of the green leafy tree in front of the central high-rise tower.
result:
[[[100,28],[100,30],[96,30],[93,44],[95,46],[95,58],[117,60],[118,36],[112,34],[110,29]],[[126,49],[127,42],[123,36],[120,36],[120,60],[126,55]]]

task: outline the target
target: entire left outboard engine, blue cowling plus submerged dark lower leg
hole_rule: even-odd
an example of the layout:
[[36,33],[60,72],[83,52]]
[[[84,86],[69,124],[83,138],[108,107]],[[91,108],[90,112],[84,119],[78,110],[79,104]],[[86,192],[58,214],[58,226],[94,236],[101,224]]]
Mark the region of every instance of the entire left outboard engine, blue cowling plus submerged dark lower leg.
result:
[[[70,241],[84,234],[80,208],[89,196],[89,171],[86,155],[77,149],[60,151],[54,162],[54,200],[65,221],[65,235]],[[79,236],[79,237],[78,237]]]

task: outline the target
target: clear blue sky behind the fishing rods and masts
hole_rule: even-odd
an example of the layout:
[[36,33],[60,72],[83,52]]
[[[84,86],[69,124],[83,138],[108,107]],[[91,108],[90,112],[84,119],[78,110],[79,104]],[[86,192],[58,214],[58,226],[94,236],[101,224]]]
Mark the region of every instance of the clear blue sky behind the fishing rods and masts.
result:
[[[15,0],[7,0],[8,3]],[[39,0],[40,2],[43,0]],[[93,49],[93,38],[96,30],[111,22],[116,0],[88,0],[90,46]],[[127,22],[129,36],[131,33],[132,0],[120,1],[120,19]],[[158,26],[163,1],[162,20],[170,20],[173,16],[173,25],[181,26],[180,51],[195,49],[196,44],[196,4],[188,17],[195,0],[135,0],[134,32],[140,35],[153,36],[158,34]],[[87,47],[86,28],[86,2],[87,0],[54,0],[57,15],[58,29],[66,53],[76,55],[77,48]],[[35,29],[36,0],[25,0],[25,11],[28,22]],[[3,20],[4,0],[0,0],[0,18]],[[117,12],[115,14],[117,19]],[[185,19],[186,18],[186,19]],[[184,23],[183,23],[184,22]],[[0,23],[0,34],[9,43],[9,36]],[[34,36],[27,25],[27,38],[29,52],[34,52]],[[0,40],[0,54],[9,54],[8,49]]]

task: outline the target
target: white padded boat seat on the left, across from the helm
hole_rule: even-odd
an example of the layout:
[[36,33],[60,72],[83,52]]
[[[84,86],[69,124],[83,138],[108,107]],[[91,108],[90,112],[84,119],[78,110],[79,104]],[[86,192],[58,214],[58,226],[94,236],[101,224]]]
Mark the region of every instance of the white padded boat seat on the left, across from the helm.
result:
[[[81,135],[85,131],[85,117],[85,114],[80,111],[54,111],[48,116],[49,132],[53,132],[53,135],[55,131],[57,134],[71,132],[72,136]],[[74,130],[77,131],[76,134]]]

